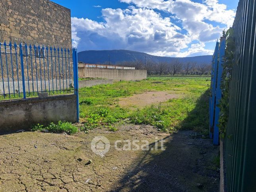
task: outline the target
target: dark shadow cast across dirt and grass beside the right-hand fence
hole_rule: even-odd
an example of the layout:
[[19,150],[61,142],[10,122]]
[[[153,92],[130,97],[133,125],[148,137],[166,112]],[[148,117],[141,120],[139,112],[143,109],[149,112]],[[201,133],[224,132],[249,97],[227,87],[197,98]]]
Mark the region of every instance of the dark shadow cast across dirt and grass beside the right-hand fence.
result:
[[[182,127],[191,122],[199,130],[207,127],[208,91],[198,99]],[[219,191],[219,173],[213,163],[219,149],[211,140],[192,130],[180,130],[165,137],[164,146],[165,151],[147,151],[136,159],[111,191]]]

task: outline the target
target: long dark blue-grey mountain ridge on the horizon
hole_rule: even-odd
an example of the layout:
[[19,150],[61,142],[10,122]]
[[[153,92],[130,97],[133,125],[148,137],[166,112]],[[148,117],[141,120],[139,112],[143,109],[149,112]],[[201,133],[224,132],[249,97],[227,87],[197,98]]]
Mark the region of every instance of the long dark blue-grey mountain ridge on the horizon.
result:
[[108,63],[110,59],[111,64],[118,64],[122,62],[133,61],[147,61],[152,62],[171,62],[178,59],[182,63],[196,62],[197,64],[210,64],[212,60],[211,55],[194,56],[194,57],[161,57],[146,54],[144,52],[136,52],[130,50],[87,50],[78,53],[78,61],[89,64]]

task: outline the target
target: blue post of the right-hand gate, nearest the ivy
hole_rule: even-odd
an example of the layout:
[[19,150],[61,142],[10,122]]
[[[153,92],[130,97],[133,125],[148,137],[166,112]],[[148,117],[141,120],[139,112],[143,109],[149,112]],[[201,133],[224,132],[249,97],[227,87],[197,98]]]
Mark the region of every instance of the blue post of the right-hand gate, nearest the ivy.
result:
[[221,99],[221,76],[223,72],[223,58],[225,56],[225,47],[226,47],[226,38],[221,37],[221,44],[219,48],[219,64],[218,64],[218,77],[217,77],[217,88],[216,88],[216,105],[215,105],[215,119],[214,119],[214,129],[213,129],[213,144],[219,145],[219,112],[220,109],[218,107],[219,100]]

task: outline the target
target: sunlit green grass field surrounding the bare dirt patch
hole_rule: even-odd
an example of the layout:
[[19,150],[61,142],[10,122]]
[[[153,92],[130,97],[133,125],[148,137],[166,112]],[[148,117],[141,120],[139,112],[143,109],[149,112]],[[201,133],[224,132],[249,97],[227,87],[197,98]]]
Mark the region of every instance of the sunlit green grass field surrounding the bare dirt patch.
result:
[[[112,126],[130,118],[130,123],[151,124],[167,132],[178,129],[205,132],[208,128],[209,84],[210,78],[164,77],[82,88],[79,92],[81,122],[87,130]],[[135,111],[118,105],[122,97],[147,91],[174,91],[184,97]]]

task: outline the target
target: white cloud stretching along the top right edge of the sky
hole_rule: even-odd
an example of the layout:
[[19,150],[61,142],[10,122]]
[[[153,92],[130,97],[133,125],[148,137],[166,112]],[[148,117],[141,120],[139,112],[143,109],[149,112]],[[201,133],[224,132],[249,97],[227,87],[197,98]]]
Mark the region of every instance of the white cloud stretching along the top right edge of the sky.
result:
[[162,10],[176,14],[182,20],[209,19],[231,27],[235,17],[234,10],[227,10],[225,4],[219,4],[218,0],[203,0],[196,3],[192,0],[119,0],[128,4],[136,4],[140,8]]

